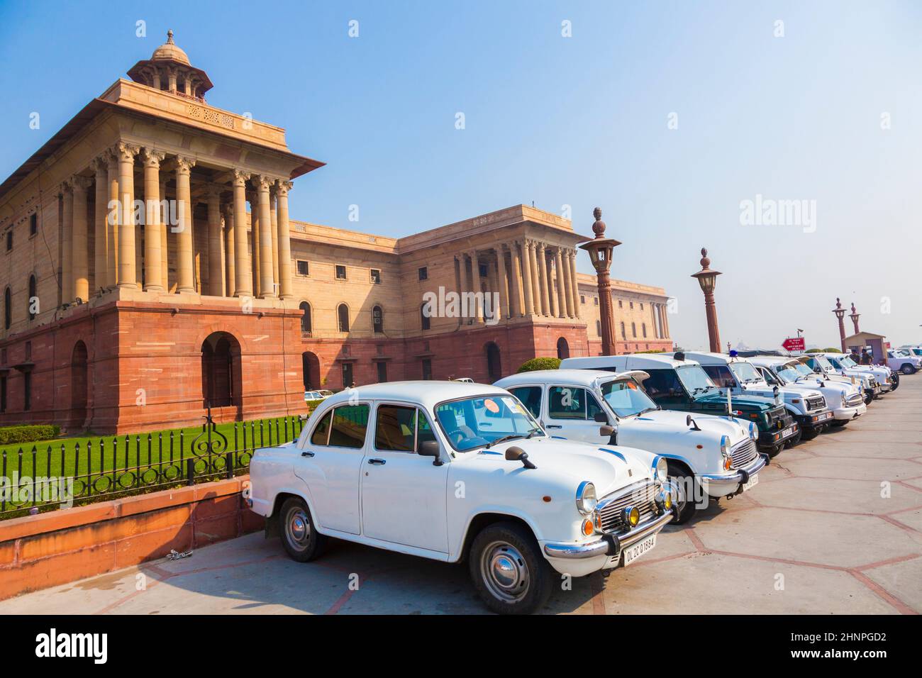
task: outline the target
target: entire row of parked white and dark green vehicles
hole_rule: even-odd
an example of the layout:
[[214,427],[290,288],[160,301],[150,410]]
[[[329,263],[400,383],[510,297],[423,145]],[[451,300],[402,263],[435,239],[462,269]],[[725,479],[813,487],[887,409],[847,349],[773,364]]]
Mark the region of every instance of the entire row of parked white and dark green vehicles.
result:
[[493,612],[608,574],[669,522],[747,492],[785,447],[861,417],[892,375],[840,354],[649,353],[326,397],[256,451],[248,503],[294,560],[337,538],[467,562]]

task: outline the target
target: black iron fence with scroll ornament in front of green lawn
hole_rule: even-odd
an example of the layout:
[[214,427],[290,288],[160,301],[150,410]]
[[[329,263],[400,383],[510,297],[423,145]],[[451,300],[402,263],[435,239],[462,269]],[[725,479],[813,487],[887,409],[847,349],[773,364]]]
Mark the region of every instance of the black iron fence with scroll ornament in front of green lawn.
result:
[[216,424],[202,430],[103,436],[0,451],[0,520],[248,472],[260,447],[296,440],[306,417]]

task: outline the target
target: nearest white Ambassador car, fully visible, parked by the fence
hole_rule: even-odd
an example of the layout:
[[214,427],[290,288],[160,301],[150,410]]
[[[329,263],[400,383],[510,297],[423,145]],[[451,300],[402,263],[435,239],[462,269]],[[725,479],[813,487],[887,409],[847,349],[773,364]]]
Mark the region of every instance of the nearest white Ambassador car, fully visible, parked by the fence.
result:
[[502,388],[392,382],[326,398],[298,440],[257,450],[248,503],[294,560],[328,537],[467,559],[491,610],[530,613],[555,570],[582,577],[656,545],[666,471],[643,450],[551,438]]

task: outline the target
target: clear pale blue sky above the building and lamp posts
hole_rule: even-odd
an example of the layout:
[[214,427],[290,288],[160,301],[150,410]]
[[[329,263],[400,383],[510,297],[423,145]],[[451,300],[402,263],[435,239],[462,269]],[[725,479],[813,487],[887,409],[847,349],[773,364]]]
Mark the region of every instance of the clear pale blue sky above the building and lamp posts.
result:
[[[706,343],[703,245],[725,343],[835,345],[836,296],[922,341],[918,3],[2,0],[0,174],[170,28],[211,104],[328,163],[295,184],[296,219],[399,236],[534,201],[590,233],[598,205],[613,275],[677,297],[686,347]],[[815,200],[816,232],[740,225],[757,194]]]

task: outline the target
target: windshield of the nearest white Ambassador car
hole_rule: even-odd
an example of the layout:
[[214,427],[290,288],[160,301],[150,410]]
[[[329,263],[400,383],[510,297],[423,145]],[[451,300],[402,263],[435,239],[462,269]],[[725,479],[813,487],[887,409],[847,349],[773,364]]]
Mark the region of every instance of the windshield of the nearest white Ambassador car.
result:
[[443,402],[435,419],[458,452],[544,434],[518,400],[501,394]]

